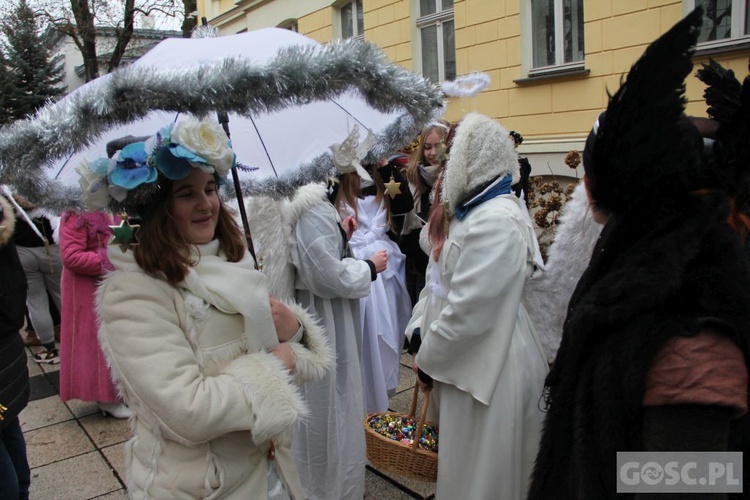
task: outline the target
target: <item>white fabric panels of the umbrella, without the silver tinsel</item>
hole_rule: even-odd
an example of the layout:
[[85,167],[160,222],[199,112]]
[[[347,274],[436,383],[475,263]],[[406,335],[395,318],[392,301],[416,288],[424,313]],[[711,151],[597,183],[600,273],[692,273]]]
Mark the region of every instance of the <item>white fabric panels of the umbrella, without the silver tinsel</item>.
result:
[[[276,28],[215,38],[172,38],[159,43],[133,66],[164,72],[199,67],[230,57],[262,65],[291,46],[314,48],[320,44],[298,33]],[[67,99],[107,85],[110,77],[106,75],[76,89]],[[290,105],[280,110],[247,116],[229,113],[228,127],[238,162],[257,169],[243,177],[261,180],[282,177],[311,162],[331,144],[341,142],[355,124],[378,134],[403,113],[403,108],[379,111],[355,91],[347,91],[335,98]],[[107,142],[126,135],[152,135],[166,123],[176,120],[177,115],[153,111],[135,122],[119,125],[85,149],[52,163],[47,174],[75,186],[78,180],[75,168],[84,159],[103,156]]]

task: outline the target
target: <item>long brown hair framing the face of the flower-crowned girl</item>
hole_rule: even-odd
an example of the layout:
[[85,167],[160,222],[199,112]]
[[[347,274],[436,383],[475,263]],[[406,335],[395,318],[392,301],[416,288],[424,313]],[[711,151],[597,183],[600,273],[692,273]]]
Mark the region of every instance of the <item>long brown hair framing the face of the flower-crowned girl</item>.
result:
[[[146,274],[176,285],[185,279],[188,269],[195,265],[190,258],[191,243],[177,230],[172,207],[172,185],[166,182],[167,195],[150,211],[138,230],[139,245],[133,247],[135,261]],[[245,238],[234,211],[219,198],[219,220],[215,238],[229,262],[238,262],[245,255]]]

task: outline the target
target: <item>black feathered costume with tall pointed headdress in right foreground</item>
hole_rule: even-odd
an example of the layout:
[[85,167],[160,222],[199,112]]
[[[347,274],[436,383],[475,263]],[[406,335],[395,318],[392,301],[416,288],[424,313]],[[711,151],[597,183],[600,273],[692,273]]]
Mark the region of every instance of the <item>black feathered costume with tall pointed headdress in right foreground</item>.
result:
[[532,500],[627,498],[616,494],[618,451],[729,446],[724,408],[642,404],[652,361],[676,336],[719,332],[747,362],[748,264],[726,223],[726,190],[683,114],[701,16],[648,47],[587,140],[590,192],[610,217],[546,380]]

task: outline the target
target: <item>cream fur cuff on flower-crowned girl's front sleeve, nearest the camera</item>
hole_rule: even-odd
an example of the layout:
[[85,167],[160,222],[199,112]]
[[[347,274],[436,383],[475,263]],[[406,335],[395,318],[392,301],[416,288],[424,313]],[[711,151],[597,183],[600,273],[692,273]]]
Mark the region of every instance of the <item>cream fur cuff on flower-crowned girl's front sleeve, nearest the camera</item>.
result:
[[257,445],[284,439],[308,414],[292,376],[273,354],[257,352],[235,359],[224,370],[242,386],[253,411],[251,429]]

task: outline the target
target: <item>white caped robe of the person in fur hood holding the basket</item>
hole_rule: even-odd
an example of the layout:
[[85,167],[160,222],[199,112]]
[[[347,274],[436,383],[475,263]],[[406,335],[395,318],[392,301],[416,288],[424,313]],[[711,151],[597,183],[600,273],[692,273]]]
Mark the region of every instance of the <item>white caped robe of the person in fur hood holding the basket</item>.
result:
[[547,360],[521,304],[534,234],[513,195],[450,222],[407,327],[439,412],[436,497],[522,500],[539,446]]

